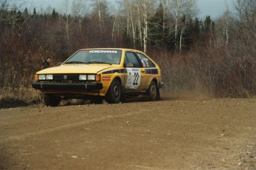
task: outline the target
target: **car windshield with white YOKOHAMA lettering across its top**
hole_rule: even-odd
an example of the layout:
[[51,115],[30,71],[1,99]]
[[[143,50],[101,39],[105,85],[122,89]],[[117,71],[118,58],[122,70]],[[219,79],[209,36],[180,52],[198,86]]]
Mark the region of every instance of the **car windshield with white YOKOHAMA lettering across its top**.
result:
[[80,50],[65,64],[120,64],[121,50]]

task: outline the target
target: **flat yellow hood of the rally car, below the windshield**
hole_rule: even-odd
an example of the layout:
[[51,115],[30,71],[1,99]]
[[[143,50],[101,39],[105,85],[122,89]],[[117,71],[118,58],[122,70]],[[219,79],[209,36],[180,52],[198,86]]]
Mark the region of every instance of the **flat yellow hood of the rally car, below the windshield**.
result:
[[65,64],[59,67],[50,67],[42,69],[36,74],[76,74],[76,73],[89,73],[95,74],[104,69],[110,68],[110,65],[98,65],[98,64]]

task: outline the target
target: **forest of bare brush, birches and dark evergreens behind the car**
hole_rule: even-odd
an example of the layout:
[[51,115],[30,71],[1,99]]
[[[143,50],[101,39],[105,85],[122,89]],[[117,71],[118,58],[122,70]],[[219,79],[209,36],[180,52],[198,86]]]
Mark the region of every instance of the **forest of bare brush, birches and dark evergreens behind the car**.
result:
[[220,18],[197,18],[197,0],[62,0],[38,9],[0,0],[0,98],[38,98],[32,89],[42,61],[76,50],[122,47],[160,65],[165,94],[214,98],[256,93],[256,1],[234,0]]

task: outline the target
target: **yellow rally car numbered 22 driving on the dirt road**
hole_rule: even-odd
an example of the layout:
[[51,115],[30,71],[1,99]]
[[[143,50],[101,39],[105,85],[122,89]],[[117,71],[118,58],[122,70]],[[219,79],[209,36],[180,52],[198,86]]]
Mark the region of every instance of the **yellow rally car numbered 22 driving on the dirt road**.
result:
[[163,87],[158,65],[145,53],[129,49],[78,50],[59,67],[36,72],[34,89],[44,93],[46,106],[62,99],[82,98],[93,103],[119,103],[126,96],[160,99]]

